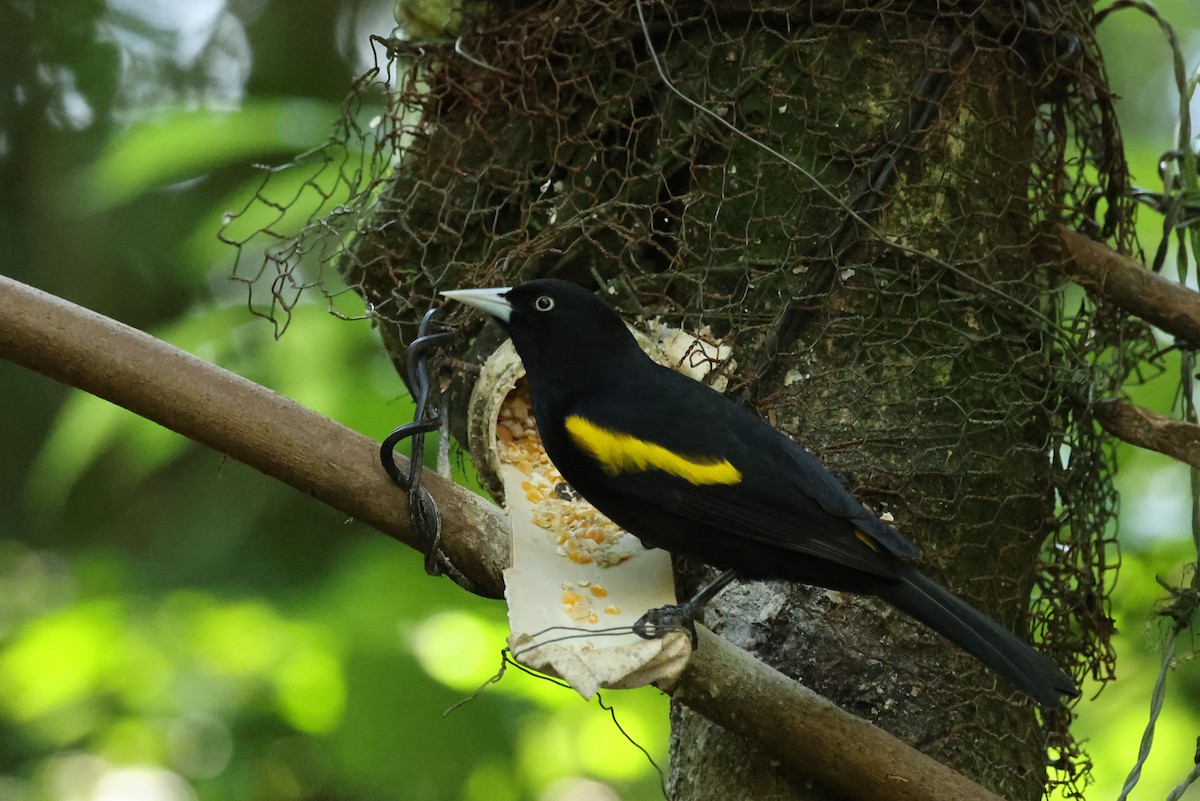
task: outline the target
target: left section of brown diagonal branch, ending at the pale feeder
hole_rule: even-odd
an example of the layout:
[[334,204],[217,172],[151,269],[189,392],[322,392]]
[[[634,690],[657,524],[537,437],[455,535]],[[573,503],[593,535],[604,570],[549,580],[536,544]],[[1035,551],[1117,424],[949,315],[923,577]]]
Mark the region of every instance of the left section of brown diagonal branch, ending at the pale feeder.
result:
[[[125,406],[420,547],[408,496],[384,474],[377,442],[148,333],[0,276],[0,357]],[[426,488],[455,532],[443,546],[446,556],[480,595],[500,597],[509,559],[503,512],[432,478]]]

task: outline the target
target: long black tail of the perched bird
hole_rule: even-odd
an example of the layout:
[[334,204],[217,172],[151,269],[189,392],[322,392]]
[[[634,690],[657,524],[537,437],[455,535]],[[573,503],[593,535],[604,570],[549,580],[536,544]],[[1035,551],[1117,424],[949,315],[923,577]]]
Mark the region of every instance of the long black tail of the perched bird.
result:
[[1060,695],[1079,694],[1070,676],[1045,655],[916,570],[905,572],[880,597],[949,639],[1039,704],[1056,706]]

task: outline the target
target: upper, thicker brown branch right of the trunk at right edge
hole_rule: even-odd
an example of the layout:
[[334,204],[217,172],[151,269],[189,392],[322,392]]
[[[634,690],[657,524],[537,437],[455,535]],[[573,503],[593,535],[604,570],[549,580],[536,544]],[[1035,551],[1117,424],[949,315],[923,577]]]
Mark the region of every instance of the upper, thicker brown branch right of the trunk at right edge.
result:
[[1200,347],[1200,293],[1064,225],[1057,225],[1055,234],[1060,258],[1052,263],[1068,278],[1193,348]]

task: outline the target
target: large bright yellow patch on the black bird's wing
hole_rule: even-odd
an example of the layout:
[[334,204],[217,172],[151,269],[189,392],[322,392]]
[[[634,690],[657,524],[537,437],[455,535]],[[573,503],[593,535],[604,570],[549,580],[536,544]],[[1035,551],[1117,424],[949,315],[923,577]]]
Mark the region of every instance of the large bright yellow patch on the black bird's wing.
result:
[[577,415],[566,418],[566,433],[610,476],[661,470],[694,484],[736,484],[742,481],[742,472],[728,459],[683,456],[661,445],[596,426]]

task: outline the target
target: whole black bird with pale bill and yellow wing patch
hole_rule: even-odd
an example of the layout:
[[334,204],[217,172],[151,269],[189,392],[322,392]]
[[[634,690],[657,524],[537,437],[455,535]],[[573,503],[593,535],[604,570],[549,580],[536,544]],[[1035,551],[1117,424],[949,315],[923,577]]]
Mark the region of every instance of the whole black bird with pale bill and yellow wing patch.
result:
[[[1078,695],[1049,658],[905,560],[917,548],[816,457],[708,386],[656,365],[582,287],[442,293],[509,330],[546,453],[593,506],[647,547],[734,577],[784,578],[883,598],[1045,705]],[[670,616],[650,615],[643,628]]]

